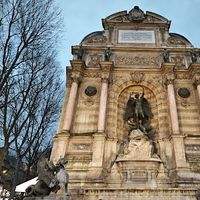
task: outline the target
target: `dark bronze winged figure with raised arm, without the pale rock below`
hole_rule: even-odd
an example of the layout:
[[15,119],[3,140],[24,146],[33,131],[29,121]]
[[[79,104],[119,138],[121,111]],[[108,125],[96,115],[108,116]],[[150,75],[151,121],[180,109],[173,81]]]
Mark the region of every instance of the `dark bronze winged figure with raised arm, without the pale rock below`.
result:
[[142,92],[132,92],[126,105],[124,120],[131,130],[140,129],[146,133],[146,123],[153,117],[151,107]]

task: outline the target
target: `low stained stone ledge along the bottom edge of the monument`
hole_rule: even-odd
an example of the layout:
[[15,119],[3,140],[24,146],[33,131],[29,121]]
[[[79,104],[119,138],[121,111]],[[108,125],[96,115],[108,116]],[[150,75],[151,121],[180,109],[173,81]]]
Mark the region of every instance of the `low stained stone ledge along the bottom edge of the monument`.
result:
[[84,200],[196,200],[196,190],[190,189],[86,189]]

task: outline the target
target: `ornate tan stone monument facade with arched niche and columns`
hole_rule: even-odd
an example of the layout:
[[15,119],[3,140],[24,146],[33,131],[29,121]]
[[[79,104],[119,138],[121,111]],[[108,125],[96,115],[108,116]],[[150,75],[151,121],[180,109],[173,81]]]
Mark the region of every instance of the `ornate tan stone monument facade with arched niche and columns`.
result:
[[51,160],[72,199],[197,199],[199,49],[138,6],[72,47]]

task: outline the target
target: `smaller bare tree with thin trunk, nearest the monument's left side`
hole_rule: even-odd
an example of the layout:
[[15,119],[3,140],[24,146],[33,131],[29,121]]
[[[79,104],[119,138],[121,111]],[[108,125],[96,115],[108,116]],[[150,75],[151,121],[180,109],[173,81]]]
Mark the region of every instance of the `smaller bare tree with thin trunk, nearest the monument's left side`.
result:
[[[17,99],[8,104],[9,117],[12,117],[12,122],[15,121],[8,129],[12,128],[12,147],[17,159],[12,178],[12,194],[18,181],[21,162],[31,150],[37,153],[46,143],[50,143],[59,116],[59,105],[63,97],[59,74],[54,59],[47,56],[43,60],[43,57],[27,63],[22,73],[23,78],[17,80]],[[27,69],[31,72],[27,73]]]

